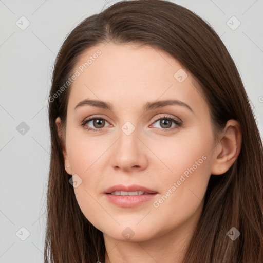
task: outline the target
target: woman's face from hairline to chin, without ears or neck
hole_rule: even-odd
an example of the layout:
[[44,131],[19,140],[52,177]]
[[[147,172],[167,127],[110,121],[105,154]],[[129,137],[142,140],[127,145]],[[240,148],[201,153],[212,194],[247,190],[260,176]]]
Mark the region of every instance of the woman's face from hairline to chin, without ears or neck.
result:
[[[187,234],[215,158],[209,108],[190,72],[151,46],[109,43],[87,50],[74,74],[64,158],[83,214],[117,240]],[[156,194],[105,193],[120,184]]]

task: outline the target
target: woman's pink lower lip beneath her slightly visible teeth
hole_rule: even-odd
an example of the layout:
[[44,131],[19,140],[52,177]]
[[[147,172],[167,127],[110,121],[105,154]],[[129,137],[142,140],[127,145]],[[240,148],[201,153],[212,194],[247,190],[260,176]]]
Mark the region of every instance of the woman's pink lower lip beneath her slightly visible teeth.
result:
[[155,194],[144,194],[144,195],[111,195],[105,194],[108,201],[123,208],[132,208],[134,206],[140,205],[147,201],[152,200]]

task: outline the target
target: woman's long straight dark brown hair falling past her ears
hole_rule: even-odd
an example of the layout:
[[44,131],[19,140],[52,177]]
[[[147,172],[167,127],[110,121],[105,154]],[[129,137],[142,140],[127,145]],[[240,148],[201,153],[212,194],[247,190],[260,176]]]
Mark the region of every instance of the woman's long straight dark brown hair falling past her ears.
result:
[[[45,262],[105,260],[103,233],[83,215],[69,183],[62,154],[64,137],[59,138],[55,119],[59,116],[65,128],[70,85],[63,91],[61,87],[72,76],[80,55],[109,41],[152,45],[171,54],[201,85],[214,130],[221,130],[230,119],[240,123],[240,154],[226,173],[211,175],[184,263],[262,263],[263,149],[247,93],[213,28],[190,10],[161,0],[111,5],[74,28],[58,53],[48,103],[51,160]],[[227,236],[232,227],[240,232],[235,241]]]

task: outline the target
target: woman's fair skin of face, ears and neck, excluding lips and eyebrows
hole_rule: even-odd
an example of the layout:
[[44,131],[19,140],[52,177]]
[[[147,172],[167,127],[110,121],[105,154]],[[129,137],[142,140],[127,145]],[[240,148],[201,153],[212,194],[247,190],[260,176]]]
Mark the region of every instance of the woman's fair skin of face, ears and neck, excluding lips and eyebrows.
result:
[[[189,71],[160,49],[100,44],[83,53],[78,66],[98,49],[102,52],[98,59],[72,83],[67,107],[63,154],[66,172],[82,179],[74,188],[77,201],[86,218],[103,232],[106,263],[180,263],[201,216],[211,174],[228,171],[238,157],[240,125],[229,120],[216,142],[201,87]],[[182,83],[174,77],[178,69],[187,73]],[[109,102],[112,110],[91,105],[74,109],[87,98]],[[162,100],[182,101],[193,112],[180,105],[142,110],[145,103]],[[81,126],[95,115],[99,116],[97,122],[105,121],[89,121],[85,126],[102,127],[100,132]],[[135,128],[129,135],[121,129],[126,122]],[[62,136],[59,117],[56,123]],[[184,176],[171,194],[173,183],[191,167],[194,172]],[[140,184],[158,194],[154,200],[122,208],[103,194],[116,184]],[[169,189],[170,196],[158,202]],[[133,233],[129,240],[122,234],[127,228]]]

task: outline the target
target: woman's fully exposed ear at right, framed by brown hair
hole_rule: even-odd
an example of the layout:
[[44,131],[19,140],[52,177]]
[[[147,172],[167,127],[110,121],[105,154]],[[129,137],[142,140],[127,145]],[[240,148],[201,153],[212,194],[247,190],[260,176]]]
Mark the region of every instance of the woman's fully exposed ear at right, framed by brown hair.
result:
[[241,127],[238,121],[229,120],[224,127],[220,142],[214,152],[212,175],[226,173],[237,159],[242,143]]

